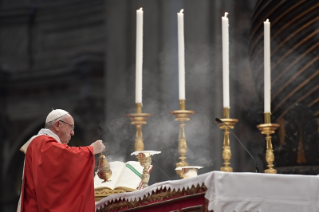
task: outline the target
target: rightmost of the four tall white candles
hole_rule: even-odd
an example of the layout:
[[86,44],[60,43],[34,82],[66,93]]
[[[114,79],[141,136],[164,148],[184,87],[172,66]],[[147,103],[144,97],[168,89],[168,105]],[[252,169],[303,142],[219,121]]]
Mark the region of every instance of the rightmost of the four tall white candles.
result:
[[264,112],[270,113],[271,71],[270,71],[270,22],[264,22]]

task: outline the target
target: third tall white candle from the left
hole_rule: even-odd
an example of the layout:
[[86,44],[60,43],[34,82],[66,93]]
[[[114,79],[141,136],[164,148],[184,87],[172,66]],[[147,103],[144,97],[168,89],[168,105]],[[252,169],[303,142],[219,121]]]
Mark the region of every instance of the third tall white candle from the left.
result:
[[228,13],[222,17],[222,38],[223,38],[223,106],[229,105],[229,33],[228,33]]

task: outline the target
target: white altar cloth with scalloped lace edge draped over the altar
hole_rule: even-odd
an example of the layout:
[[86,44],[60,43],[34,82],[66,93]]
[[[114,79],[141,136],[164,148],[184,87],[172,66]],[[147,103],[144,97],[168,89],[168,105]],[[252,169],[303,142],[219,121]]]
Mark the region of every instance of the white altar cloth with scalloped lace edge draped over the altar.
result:
[[161,188],[177,190],[203,183],[208,209],[214,212],[319,212],[319,176],[220,171],[114,194],[95,203],[95,208],[120,199],[143,199]]

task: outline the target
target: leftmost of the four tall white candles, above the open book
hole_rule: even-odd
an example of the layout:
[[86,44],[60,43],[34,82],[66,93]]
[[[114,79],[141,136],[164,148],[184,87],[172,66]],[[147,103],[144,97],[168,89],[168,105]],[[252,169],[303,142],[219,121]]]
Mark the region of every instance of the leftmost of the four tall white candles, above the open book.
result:
[[143,8],[136,10],[135,103],[142,103]]

